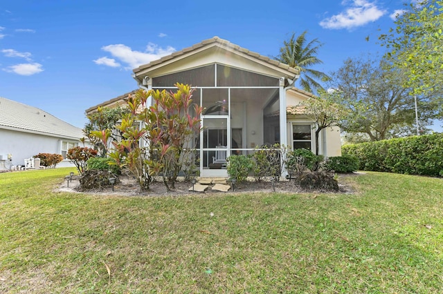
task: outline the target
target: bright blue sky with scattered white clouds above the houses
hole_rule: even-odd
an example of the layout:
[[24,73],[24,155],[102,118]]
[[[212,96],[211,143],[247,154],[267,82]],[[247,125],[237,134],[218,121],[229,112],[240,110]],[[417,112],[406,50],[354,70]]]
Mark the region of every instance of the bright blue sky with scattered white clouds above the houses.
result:
[[383,55],[404,1],[0,0],[0,97],[83,128],[84,110],[137,88],[133,68],[215,36],[275,57],[307,30],[329,73]]

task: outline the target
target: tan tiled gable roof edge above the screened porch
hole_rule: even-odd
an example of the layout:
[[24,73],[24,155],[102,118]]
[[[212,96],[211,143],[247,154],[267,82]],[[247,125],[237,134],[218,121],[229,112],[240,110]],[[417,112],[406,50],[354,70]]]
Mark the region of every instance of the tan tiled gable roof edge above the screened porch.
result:
[[250,50],[248,50],[246,48],[242,48],[242,47],[240,47],[238,45],[230,43],[230,41],[228,41],[228,40],[220,39],[219,37],[213,37],[211,39],[206,39],[206,40],[201,41],[200,43],[197,43],[197,44],[195,44],[195,45],[193,45],[191,47],[184,48],[183,50],[180,50],[180,51],[176,51],[176,52],[172,53],[171,55],[167,55],[165,57],[161,57],[161,59],[157,59],[157,60],[151,61],[150,63],[144,64],[143,66],[139,66],[138,68],[135,68],[134,72],[140,72],[142,70],[145,70],[147,68],[155,66],[156,64],[162,63],[164,61],[168,61],[169,59],[174,59],[174,58],[176,58],[176,57],[178,57],[180,55],[185,55],[188,52],[192,52],[192,51],[197,50],[197,49],[199,49],[201,47],[208,46],[209,44],[212,44],[212,43],[217,43],[217,44],[219,44],[221,46],[225,46],[226,48],[230,48],[231,50],[236,50],[238,52],[244,53],[244,54],[249,55],[251,57],[254,57],[256,59],[260,59],[262,61],[270,63],[273,66],[278,66],[279,68],[282,68],[284,70],[288,70],[289,72],[292,72],[293,74],[298,74],[298,70],[296,70],[295,68],[291,68],[287,64],[284,64],[284,63],[281,63],[281,62],[276,61],[274,59],[271,59],[269,57],[260,55],[257,52],[250,51]]

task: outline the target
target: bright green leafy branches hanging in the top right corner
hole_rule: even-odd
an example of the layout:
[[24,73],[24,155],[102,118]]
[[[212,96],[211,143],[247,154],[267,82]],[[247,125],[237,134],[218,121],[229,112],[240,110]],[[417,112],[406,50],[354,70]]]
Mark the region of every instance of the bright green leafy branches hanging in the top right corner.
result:
[[424,0],[397,16],[397,27],[381,35],[386,57],[403,70],[413,94],[441,90],[443,84],[443,1]]

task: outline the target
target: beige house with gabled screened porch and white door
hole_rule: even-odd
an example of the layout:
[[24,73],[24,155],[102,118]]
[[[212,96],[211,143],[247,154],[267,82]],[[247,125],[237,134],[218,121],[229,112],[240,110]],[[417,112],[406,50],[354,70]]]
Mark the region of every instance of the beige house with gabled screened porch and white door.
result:
[[[298,71],[284,63],[213,37],[140,66],[133,77],[145,90],[174,90],[177,82],[196,88],[192,99],[206,108],[197,146],[201,176],[227,175],[225,168],[213,168],[221,147],[228,155],[250,154],[275,143],[315,152],[314,123],[297,107],[312,95],[293,87]],[[132,92],[98,106],[123,104]],[[327,128],[320,136],[321,154],[341,155],[338,128]]]

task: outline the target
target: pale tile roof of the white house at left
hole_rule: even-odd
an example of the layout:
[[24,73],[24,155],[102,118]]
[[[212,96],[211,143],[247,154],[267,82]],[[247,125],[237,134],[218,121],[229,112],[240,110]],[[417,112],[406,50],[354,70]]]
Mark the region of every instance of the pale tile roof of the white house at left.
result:
[[84,137],[82,129],[26,104],[0,97],[0,128],[66,139]]

